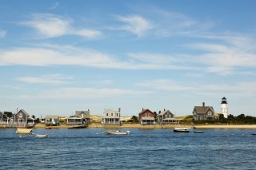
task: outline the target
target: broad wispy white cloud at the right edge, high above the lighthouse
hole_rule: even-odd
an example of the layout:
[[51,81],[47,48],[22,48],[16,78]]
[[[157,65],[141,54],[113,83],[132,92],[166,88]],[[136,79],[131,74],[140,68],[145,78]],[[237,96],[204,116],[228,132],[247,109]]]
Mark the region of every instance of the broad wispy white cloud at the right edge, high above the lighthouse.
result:
[[253,38],[244,35],[208,35],[205,38],[219,42],[198,43],[190,47],[202,51],[196,62],[205,65],[208,72],[229,74],[235,69],[256,66],[256,41]]

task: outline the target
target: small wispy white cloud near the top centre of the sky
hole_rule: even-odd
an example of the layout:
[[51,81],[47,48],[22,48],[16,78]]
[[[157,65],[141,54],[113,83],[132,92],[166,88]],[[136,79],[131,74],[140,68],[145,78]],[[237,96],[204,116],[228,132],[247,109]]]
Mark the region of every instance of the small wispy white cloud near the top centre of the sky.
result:
[[132,34],[136,34],[138,37],[145,34],[147,30],[151,30],[152,28],[154,28],[153,23],[151,23],[146,18],[142,18],[142,16],[139,15],[117,15],[116,19],[119,22],[122,22],[124,25],[117,26],[115,29],[126,30]]

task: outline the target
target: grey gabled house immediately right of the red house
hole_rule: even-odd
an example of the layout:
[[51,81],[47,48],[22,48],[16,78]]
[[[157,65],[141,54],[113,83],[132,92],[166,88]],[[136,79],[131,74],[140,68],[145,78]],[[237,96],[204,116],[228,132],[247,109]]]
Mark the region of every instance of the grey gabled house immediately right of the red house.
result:
[[178,124],[180,120],[174,118],[174,114],[170,110],[163,109],[158,114],[158,122],[160,124]]

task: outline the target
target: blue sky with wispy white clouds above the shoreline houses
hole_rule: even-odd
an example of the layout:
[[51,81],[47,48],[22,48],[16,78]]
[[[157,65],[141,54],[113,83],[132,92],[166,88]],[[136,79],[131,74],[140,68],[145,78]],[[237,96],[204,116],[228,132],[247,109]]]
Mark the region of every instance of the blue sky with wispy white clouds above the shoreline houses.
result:
[[0,111],[256,116],[254,0],[2,0]]

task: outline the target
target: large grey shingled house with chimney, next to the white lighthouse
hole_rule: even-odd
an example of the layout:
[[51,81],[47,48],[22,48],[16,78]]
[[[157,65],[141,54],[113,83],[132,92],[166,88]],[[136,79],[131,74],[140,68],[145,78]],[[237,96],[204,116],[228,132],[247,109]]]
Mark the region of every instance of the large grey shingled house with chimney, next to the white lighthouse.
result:
[[192,113],[194,121],[214,121],[218,119],[218,116],[214,115],[213,106],[206,106],[205,102],[202,102],[202,106],[194,106]]

